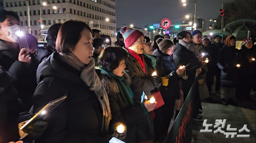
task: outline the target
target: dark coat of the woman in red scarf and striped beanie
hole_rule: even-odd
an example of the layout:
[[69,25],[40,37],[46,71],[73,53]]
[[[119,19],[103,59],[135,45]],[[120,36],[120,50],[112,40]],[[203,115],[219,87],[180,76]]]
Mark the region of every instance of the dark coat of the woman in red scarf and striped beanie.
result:
[[[125,51],[127,50],[125,49]],[[155,86],[150,80],[150,76],[152,75],[153,70],[148,67],[147,63],[145,62],[145,74],[138,61],[128,51],[127,53],[128,57],[125,59],[125,71],[132,79],[131,89],[136,97],[136,100],[140,102],[143,91],[145,92],[147,97],[150,98],[150,91],[155,89]]]

